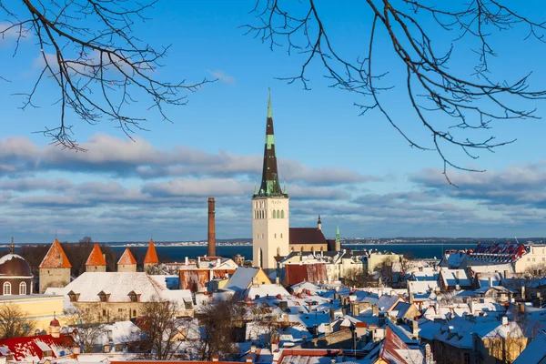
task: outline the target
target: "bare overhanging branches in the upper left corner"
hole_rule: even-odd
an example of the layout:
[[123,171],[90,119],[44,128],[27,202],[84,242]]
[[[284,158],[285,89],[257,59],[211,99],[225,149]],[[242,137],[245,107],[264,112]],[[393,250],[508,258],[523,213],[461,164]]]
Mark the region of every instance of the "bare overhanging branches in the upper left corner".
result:
[[[149,20],[146,12],[156,2],[0,0],[0,14],[8,22],[0,28],[0,39],[15,35],[16,56],[21,41],[32,36],[41,54],[35,85],[18,94],[24,98],[21,108],[36,107],[45,79],[57,86],[60,120],[42,131],[55,144],[81,150],[72,133],[74,119],[92,125],[107,119],[130,137],[135,129],[145,129],[144,111],[157,110],[168,120],[165,106],[186,104],[187,93],[208,82],[157,79],[168,46],[155,48],[133,32],[136,21]],[[146,99],[147,105],[127,111],[138,99]]]

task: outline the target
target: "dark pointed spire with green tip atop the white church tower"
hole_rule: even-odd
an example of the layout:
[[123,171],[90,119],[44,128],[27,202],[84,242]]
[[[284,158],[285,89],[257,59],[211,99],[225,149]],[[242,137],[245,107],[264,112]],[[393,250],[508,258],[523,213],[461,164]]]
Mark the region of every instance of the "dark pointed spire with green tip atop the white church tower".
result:
[[262,180],[255,197],[288,197],[278,183],[277,156],[275,153],[275,134],[273,132],[273,110],[271,108],[271,89],[268,96],[268,119],[266,122],[266,146],[264,148],[264,167]]

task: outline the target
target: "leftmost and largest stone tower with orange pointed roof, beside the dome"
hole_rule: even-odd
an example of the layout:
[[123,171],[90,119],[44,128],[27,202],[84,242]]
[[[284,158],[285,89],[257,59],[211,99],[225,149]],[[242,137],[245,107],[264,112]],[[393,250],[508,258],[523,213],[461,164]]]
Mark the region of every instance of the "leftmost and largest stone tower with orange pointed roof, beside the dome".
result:
[[40,276],[39,293],[44,293],[46,288],[64,288],[70,283],[70,262],[66,258],[63,247],[59,241],[55,239],[44,260],[38,267],[38,275]]

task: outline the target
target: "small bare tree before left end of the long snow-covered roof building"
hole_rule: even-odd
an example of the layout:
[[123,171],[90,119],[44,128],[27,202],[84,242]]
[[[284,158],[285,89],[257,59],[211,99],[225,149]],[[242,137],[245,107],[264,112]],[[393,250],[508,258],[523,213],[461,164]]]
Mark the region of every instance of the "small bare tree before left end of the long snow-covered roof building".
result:
[[98,339],[106,333],[98,313],[79,308],[66,308],[64,313],[66,325],[77,329],[76,341],[84,347],[84,352],[94,352]]

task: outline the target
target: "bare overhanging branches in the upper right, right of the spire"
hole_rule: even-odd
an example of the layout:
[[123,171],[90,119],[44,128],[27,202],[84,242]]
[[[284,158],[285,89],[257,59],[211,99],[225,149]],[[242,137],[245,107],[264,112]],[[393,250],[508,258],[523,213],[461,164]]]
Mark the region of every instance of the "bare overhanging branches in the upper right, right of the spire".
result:
[[[519,15],[513,4],[505,5],[501,0],[433,4],[424,0],[364,0],[362,3],[360,8],[340,5],[348,6],[347,12],[358,12],[359,21],[369,26],[361,45],[362,55],[358,57],[347,56],[347,50],[340,50],[333,32],[327,28],[329,12],[314,0],[298,3],[258,0],[253,10],[257,21],[245,27],[247,34],[267,43],[272,50],[286,45],[288,55],[301,55],[298,75],[281,80],[288,84],[299,82],[308,89],[308,74],[316,61],[324,67],[330,86],[362,96],[362,102],[357,104],[361,115],[377,111],[410,147],[436,151],[450,184],[449,167],[479,171],[453,162],[446,155],[450,146],[459,147],[468,157],[476,159],[480,151],[493,151],[515,140],[497,141],[494,134],[484,137],[484,130],[490,129],[493,121],[536,117],[534,106],[526,110],[518,102],[542,99],[546,91],[528,87],[531,74],[515,81],[502,79],[502,74],[490,72],[490,62],[498,56],[493,48],[494,35],[523,29],[528,32],[525,39],[543,42],[546,22]],[[451,42],[446,42],[446,38]],[[359,45],[355,43],[355,47],[358,49]],[[452,67],[460,55],[466,64],[473,65],[469,70]],[[382,67],[384,64],[398,65],[401,78],[392,81],[390,69]],[[406,88],[407,101],[413,110],[411,125],[424,128],[431,138],[428,144],[413,136],[415,127],[410,126],[408,114],[404,113],[401,119],[384,102],[397,82]]]

